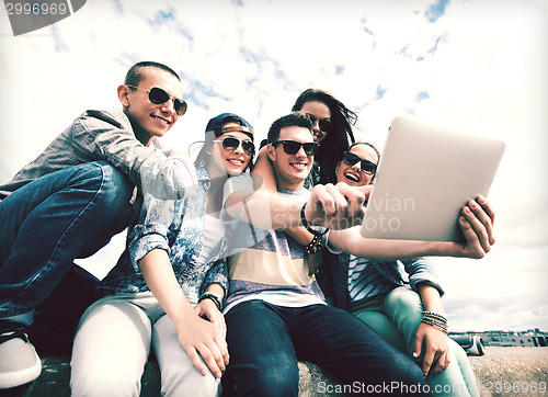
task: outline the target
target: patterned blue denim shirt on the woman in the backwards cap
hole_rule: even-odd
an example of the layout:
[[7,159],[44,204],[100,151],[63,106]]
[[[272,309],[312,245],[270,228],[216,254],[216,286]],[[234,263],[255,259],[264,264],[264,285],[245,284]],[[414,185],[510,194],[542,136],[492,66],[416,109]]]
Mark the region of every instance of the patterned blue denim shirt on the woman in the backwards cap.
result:
[[104,294],[128,294],[149,291],[138,261],[152,249],[168,252],[173,272],[189,300],[197,303],[199,295],[213,283],[228,291],[226,250],[235,225],[227,225],[220,250],[206,264],[197,260],[204,243],[204,225],[209,177],[196,169],[196,194],[179,201],[162,201],[147,194],[139,220],[127,237],[126,250],[116,266],[101,282]]

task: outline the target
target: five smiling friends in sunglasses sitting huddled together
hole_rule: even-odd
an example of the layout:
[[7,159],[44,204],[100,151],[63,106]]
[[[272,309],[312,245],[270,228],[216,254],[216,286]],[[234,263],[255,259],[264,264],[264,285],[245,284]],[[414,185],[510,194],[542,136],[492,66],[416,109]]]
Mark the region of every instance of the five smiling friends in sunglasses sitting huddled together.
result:
[[355,394],[479,395],[425,257],[489,252],[484,197],[456,219],[464,243],[365,239],[380,155],[332,94],[304,91],[256,149],[217,115],[194,161],[160,139],[186,112],[175,71],[138,63],[117,97],[0,186],[0,388],[39,375],[34,310],[127,228],[76,330],[75,396],[139,395],[151,350],[162,395],[296,396],[298,361]]

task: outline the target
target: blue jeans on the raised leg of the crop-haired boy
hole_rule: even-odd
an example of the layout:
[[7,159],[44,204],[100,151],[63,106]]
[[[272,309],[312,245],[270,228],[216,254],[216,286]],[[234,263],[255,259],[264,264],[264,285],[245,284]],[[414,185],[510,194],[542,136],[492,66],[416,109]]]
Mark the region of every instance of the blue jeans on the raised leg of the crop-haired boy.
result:
[[128,226],[133,190],[126,174],[96,161],[41,177],[1,201],[0,318],[32,321],[26,315],[76,258],[92,254]]

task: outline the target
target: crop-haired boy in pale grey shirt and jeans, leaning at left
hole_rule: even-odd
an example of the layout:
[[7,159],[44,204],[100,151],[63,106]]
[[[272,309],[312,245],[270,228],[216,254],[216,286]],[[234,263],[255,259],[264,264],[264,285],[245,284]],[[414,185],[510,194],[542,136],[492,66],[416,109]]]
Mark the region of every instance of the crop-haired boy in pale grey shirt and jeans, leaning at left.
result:
[[129,203],[134,189],[160,198],[193,194],[192,162],[159,139],[184,113],[182,95],[171,68],[136,64],[117,88],[121,109],[84,112],[0,185],[0,388],[39,375],[41,361],[25,337],[34,309],[73,273],[76,258],[127,227],[138,211]]

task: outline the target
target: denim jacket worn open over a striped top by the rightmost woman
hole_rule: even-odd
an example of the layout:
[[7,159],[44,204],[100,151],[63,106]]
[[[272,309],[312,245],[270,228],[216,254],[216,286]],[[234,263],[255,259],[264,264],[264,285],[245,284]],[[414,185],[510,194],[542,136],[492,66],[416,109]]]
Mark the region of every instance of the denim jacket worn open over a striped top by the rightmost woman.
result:
[[[320,266],[318,282],[326,295],[327,300],[339,308],[347,310],[350,308],[349,296],[349,262],[350,253],[324,252],[323,263]],[[398,262],[404,266],[408,274],[406,277]],[[393,287],[410,284],[416,291],[419,283],[426,283],[444,294],[435,275],[432,262],[427,258],[416,258],[401,261],[370,260],[370,264],[385,276],[385,281],[393,284]],[[409,279],[409,280],[407,280]]]

